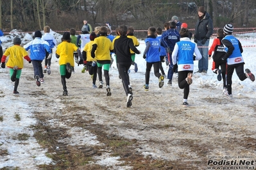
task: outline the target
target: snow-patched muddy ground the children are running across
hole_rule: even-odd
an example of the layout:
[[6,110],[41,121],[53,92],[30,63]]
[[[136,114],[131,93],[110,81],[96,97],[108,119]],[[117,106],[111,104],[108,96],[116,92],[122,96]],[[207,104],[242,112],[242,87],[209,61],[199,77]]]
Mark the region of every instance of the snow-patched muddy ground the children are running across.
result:
[[[14,31],[1,38],[3,49],[12,45],[15,35],[21,36]],[[54,35],[60,42],[61,35]],[[29,34],[22,36],[22,44],[32,38]],[[244,46],[244,68],[256,73],[256,36],[237,37]],[[141,41],[139,50],[143,52],[144,48]],[[225,156],[226,161],[255,160],[256,82],[239,81],[234,74],[234,98],[225,98],[221,95],[222,82],[210,70],[210,61],[207,75],[194,73],[188,100],[190,106],[184,108],[181,105],[183,90],[178,88],[176,75],[173,86],[168,86],[166,79],[164,87],[159,89],[158,79],[151,73],[149,91],[144,91],[146,66],[142,54],[136,56],[135,62],[139,72],[135,73],[131,67],[131,108],[126,108],[126,96],[115,63],[110,70],[111,97],[106,96],[105,88],[91,88],[90,75],[81,73],[82,66],[75,66],[75,73],[67,80],[69,96],[62,97],[58,59],[55,57],[52,73],[45,74],[45,83],[40,87],[33,79],[32,65],[24,60],[19,95],[12,94],[13,82],[8,68],[0,68],[0,169],[39,169],[38,165],[54,167],[59,162],[49,155],[59,150],[72,153],[74,148],[92,157],[91,166],[98,165],[102,169],[139,169],[132,161],[135,155],[144,155],[152,161],[164,160],[164,165],[158,169],[206,169],[207,166],[217,166],[210,160],[221,161],[224,159],[220,157]],[[163,65],[167,74],[167,67],[165,63]],[[197,70],[197,61],[195,65],[194,71]],[[52,132],[48,136],[55,139],[51,146],[36,139],[35,127],[38,125],[44,127],[42,134]],[[19,138],[22,134],[27,134],[28,138]],[[128,147],[130,151],[124,151],[127,153],[124,155],[114,154],[116,151],[106,144],[107,139],[132,143]],[[73,167],[87,169],[86,166]],[[227,169],[229,165],[220,167]]]

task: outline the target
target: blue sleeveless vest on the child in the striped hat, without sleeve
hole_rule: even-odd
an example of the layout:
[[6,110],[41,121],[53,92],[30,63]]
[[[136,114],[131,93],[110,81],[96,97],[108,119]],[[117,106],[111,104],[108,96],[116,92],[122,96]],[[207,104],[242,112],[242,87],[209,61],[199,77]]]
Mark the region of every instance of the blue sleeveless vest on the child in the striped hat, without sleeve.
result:
[[[226,60],[226,63],[228,65],[244,63],[244,59],[239,48],[239,40],[237,40],[237,38],[235,38],[233,35],[226,35],[225,38],[223,38],[223,40],[228,40],[234,46],[234,50]],[[228,48],[226,48],[226,52],[228,52]]]

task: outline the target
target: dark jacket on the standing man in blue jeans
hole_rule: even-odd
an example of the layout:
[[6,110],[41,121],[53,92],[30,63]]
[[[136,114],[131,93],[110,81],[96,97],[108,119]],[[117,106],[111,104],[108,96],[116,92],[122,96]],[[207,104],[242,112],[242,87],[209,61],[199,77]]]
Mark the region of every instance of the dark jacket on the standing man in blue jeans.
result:
[[198,19],[194,31],[194,40],[210,39],[213,33],[212,19],[210,19],[209,13],[205,12],[203,19]]

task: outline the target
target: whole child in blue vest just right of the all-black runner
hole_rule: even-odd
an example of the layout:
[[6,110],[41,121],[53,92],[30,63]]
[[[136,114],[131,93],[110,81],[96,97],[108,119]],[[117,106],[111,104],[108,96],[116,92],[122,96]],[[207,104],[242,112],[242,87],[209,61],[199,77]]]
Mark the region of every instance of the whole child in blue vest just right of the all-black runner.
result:
[[145,40],[146,43],[146,49],[143,53],[143,58],[146,59],[146,73],[145,73],[145,81],[146,84],[144,84],[143,88],[148,91],[149,89],[149,75],[151,67],[154,66],[154,73],[155,76],[159,79],[159,88],[162,88],[164,86],[164,75],[161,75],[159,73],[159,66],[160,66],[160,43],[157,40],[157,37],[155,35],[155,27],[149,27],[148,28],[148,36]]

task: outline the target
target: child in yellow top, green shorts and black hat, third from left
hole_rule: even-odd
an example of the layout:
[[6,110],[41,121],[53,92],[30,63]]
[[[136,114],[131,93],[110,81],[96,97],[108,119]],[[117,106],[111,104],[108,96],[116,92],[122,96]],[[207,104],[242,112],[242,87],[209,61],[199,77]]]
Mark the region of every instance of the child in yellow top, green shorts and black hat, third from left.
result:
[[73,52],[78,52],[78,56],[81,58],[81,52],[74,43],[71,43],[70,33],[65,32],[62,36],[62,43],[57,46],[56,58],[60,58],[58,63],[60,65],[60,77],[62,80],[62,86],[64,92],[62,95],[67,96],[66,78],[69,79],[72,73],[72,66],[74,66]]

